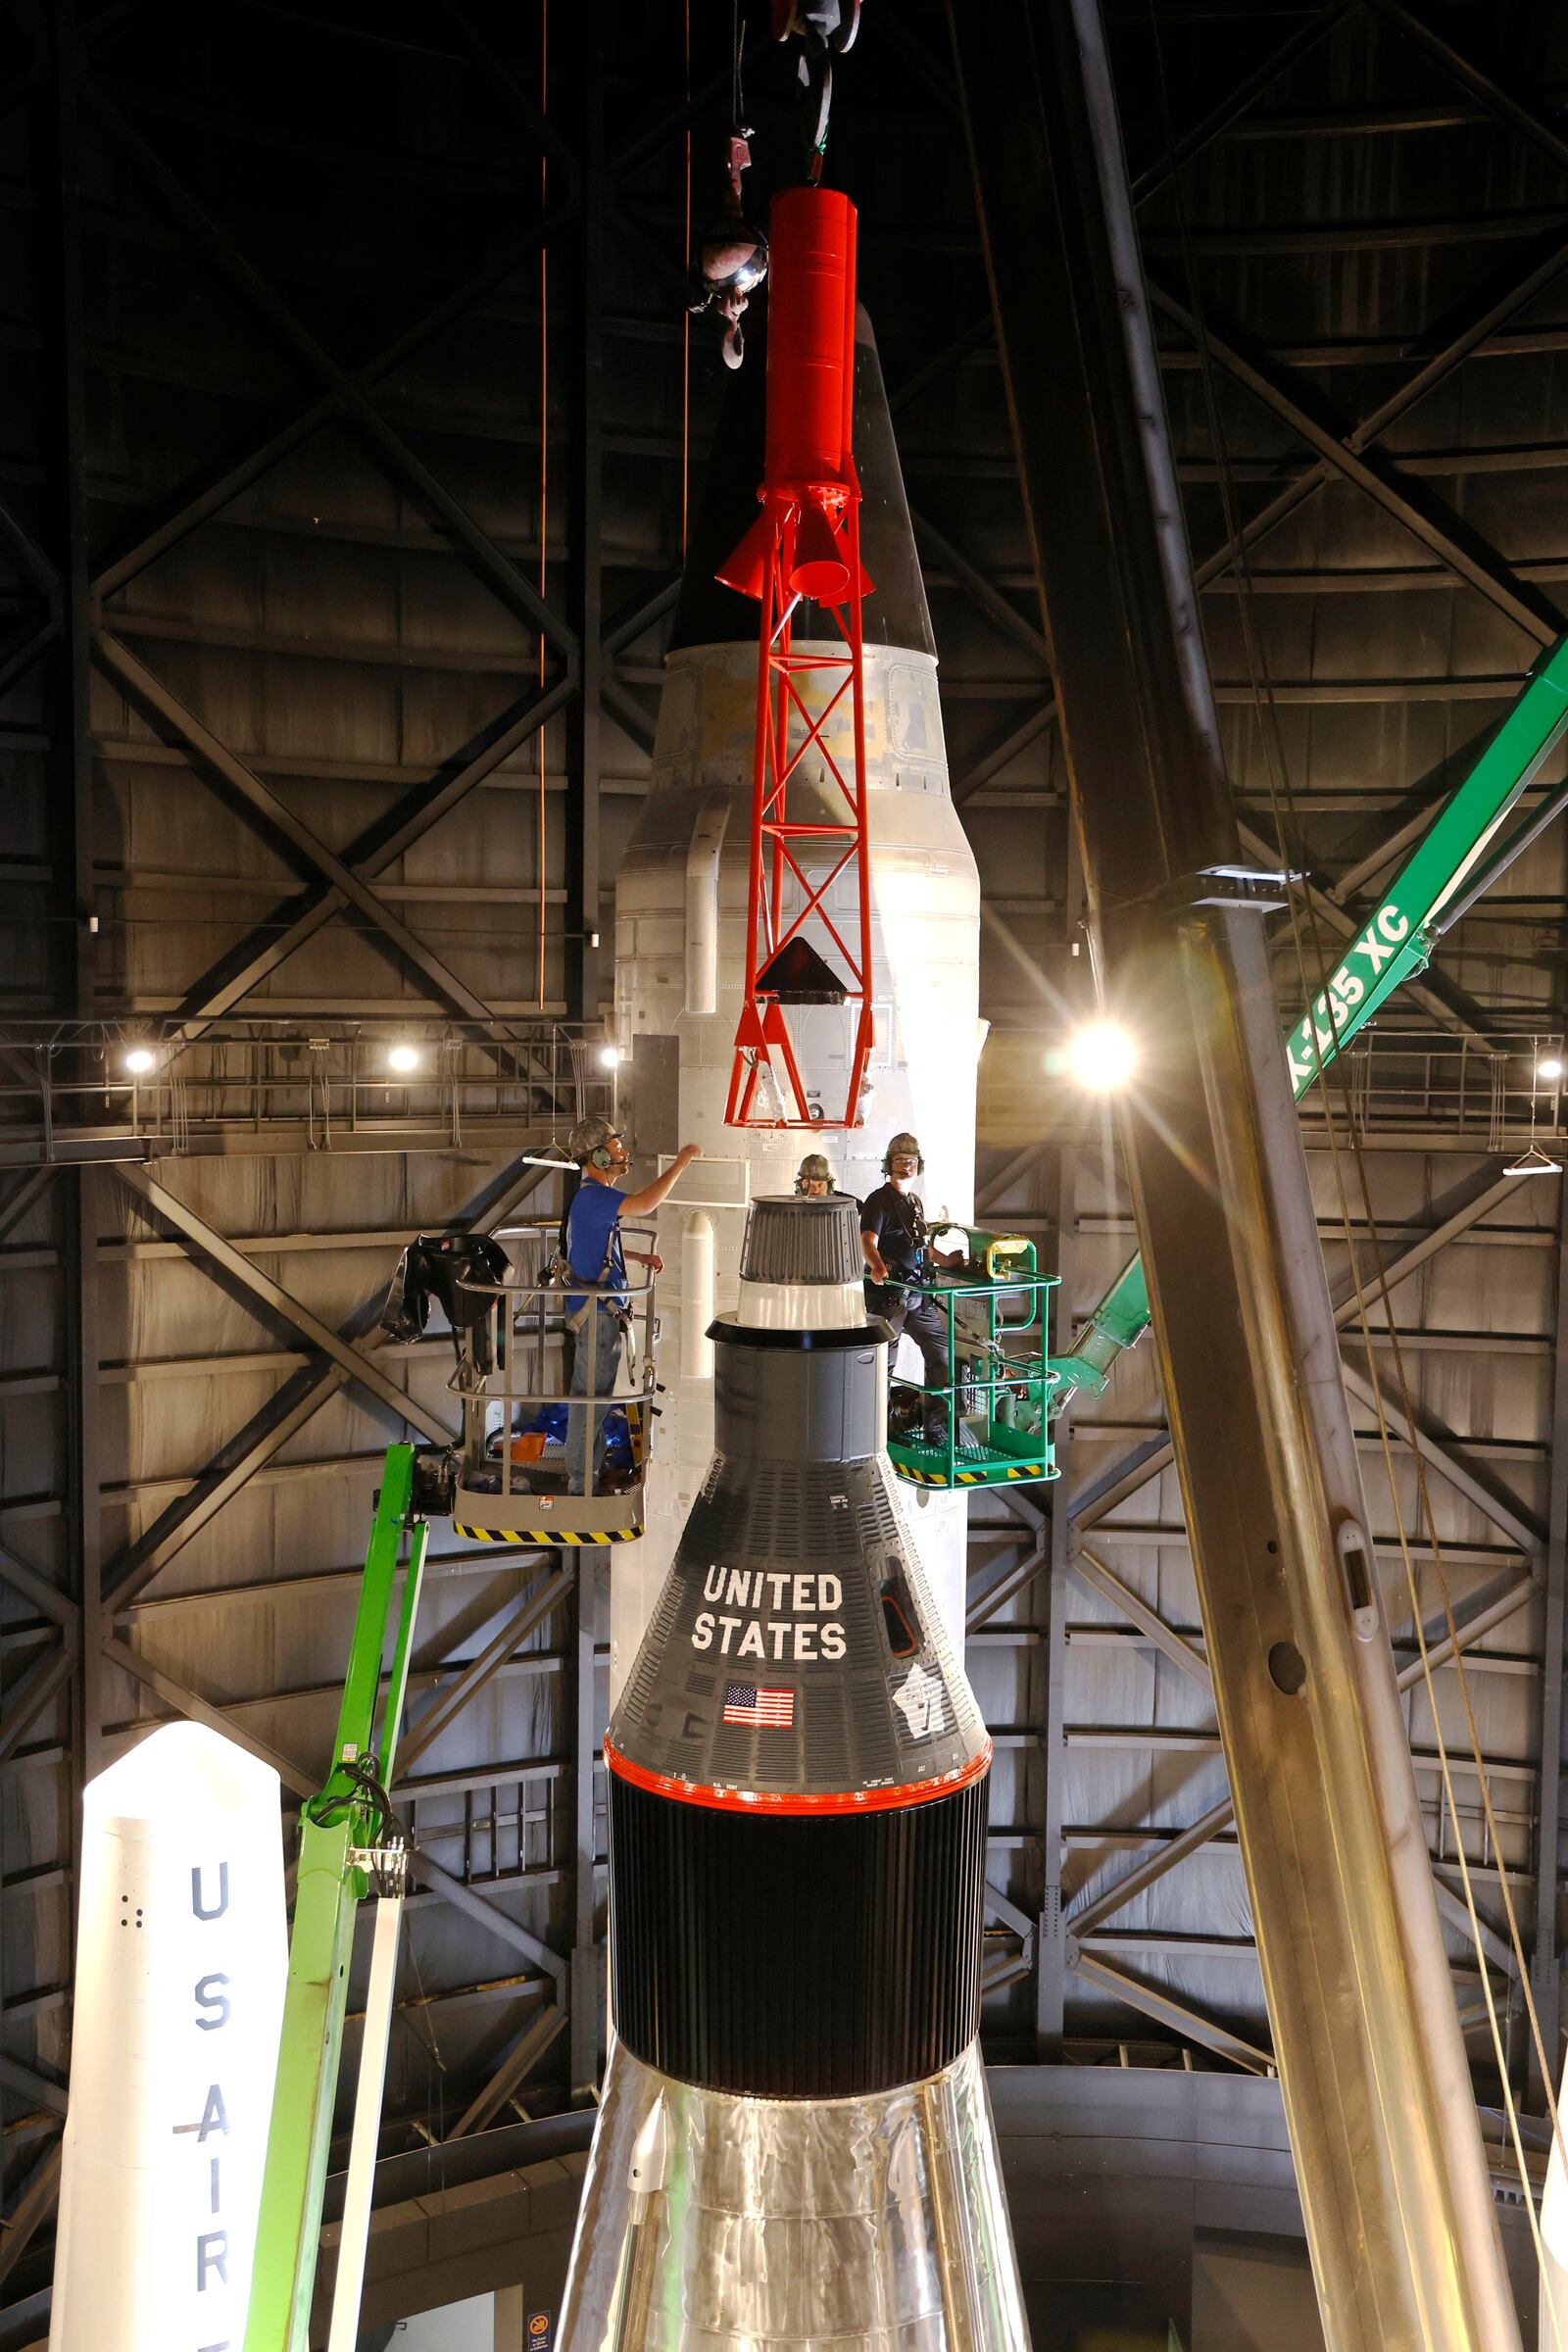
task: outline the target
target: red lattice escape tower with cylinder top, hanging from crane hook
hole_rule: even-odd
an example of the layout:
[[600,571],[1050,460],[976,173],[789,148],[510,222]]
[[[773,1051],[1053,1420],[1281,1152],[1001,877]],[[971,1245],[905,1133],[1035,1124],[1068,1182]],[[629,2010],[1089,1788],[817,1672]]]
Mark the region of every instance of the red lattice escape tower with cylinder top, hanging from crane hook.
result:
[[[851,456],[856,214],[844,195],[790,188],[773,200],[769,289],[762,515],[719,572],[729,588],[762,602],[745,997],[724,1120],[856,1127],[875,1035],[860,649],[860,600],[872,583],[860,569],[860,485]],[[842,652],[820,642],[795,652],[802,597],[832,614]],[[856,922],[839,927],[827,894],[846,875]],[[837,950],[837,969],[811,929]],[[837,1117],[811,1108],[788,1004],[858,1007],[849,1094]]]

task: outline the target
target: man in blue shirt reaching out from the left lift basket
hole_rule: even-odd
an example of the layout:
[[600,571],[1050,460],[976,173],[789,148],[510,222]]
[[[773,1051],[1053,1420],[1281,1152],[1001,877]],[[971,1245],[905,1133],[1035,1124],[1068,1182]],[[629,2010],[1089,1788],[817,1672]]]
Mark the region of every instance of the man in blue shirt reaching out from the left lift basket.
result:
[[[682,1143],[675,1162],[663,1176],[644,1183],[639,1192],[623,1192],[621,1178],[628,1174],[632,1160],[625,1148],[625,1138],[611,1127],[609,1120],[578,1120],[571,1129],[567,1150],[583,1171],[583,1181],[576,1188],[571,1209],[567,1211],[564,1225],[564,1256],[578,1282],[588,1282],[595,1289],[623,1291],[625,1289],[625,1249],[621,1244],[621,1218],[623,1216],[651,1216],[654,1209],[665,1200],[675,1178],[701,1160],[701,1148],[696,1143]],[[651,1272],[663,1272],[663,1258],[656,1251],[632,1251],[635,1265],[649,1265]],[[616,1374],[621,1369],[621,1343],[628,1329],[625,1308],[616,1305],[614,1298],[588,1298],[583,1291],[571,1291],[567,1296],[569,1329],[576,1336],[576,1350],[571,1359],[571,1395],[574,1397],[607,1397],[616,1388]],[[599,1489],[599,1472],[604,1468],[604,1423],[609,1406],[599,1404],[592,1409],[592,1482]],[[567,1414],[567,1489],[569,1494],[585,1494],[585,1463],[588,1463],[588,1414],[581,1406],[571,1406]]]

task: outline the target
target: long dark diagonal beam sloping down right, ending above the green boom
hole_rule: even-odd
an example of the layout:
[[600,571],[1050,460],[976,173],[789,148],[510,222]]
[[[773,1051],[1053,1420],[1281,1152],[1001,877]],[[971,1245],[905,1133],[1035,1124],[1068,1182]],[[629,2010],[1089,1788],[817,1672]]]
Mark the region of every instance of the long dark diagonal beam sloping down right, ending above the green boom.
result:
[[[1568,254],[1561,256],[1559,268],[1566,263]],[[1302,407],[1272,362],[1253,350],[1237,327],[1227,325],[1220,332],[1213,315],[1197,320],[1154,278],[1147,278],[1147,287],[1152,306],[1178,325],[1199,350],[1208,350],[1225,374],[1241,383],[1262,407],[1272,409],[1281,423],[1291,426],[1333,473],[1354,482],[1385,515],[1403,524],[1439,562],[1476,588],[1516,628],[1535,637],[1537,644],[1556,644],[1563,635],[1563,616],[1547,597],[1516,579],[1502,555],[1481,534],[1462,524],[1441,499],[1401,475],[1394,463],[1352,449],[1347,433],[1324,423],[1312,409]],[[1201,574],[1199,586],[1204,586]]]

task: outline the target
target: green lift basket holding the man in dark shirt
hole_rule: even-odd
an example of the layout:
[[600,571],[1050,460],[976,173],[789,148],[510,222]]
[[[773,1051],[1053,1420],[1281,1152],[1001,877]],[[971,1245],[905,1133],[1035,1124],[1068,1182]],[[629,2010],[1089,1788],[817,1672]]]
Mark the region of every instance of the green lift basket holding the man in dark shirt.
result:
[[[1046,1357],[1056,1275],[1034,1265],[1034,1244],[976,1225],[964,1232],[966,1268],[907,1289],[947,1324],[947,1381],[922,1388],[893,1381],[889,1458],[910,1486],[1023,1486],[1056,1477],[1051,1392],[1060,1374]],[[926,1437],[940,1423],[936,1439]]]

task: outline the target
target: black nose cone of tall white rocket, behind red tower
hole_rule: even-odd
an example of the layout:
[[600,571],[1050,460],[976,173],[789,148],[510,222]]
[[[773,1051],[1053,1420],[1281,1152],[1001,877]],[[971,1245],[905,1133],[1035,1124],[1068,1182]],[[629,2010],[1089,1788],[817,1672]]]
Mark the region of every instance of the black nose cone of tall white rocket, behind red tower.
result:
[[[703,496],[686,550],[670,652],[686,644],[755,644],[757,604],[722,588],[715,572],[757,520],[762,445],[766,426],[766,327],[745,336],[745,367],[729,379],[719,428],[708,461]],[[860,562],[875,583],[865,597],[865,642],[936,654],[926,583],[919,576],[910,503],[893,440],[886,386],[872,322],[856,308],[856,473],[860,475]],[[797,637],[835,635],[832,619],[802,607]]]

